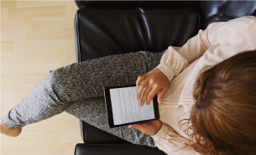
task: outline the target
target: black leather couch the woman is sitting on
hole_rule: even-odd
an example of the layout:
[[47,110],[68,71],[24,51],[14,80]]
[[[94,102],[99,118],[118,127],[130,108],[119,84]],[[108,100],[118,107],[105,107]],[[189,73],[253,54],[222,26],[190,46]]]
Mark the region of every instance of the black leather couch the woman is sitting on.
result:
[[[76,60],[182,46],[214,22],[256,15],[256,1],[75,1]],[[81,121],[75,155],[165,154],[133,145]]]

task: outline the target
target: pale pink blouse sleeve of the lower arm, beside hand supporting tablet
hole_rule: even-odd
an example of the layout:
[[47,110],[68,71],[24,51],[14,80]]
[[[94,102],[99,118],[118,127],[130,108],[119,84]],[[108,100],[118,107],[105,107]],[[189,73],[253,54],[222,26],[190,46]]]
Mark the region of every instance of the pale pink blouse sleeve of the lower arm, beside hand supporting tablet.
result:
[[152,137],[159,150],[166,152],[168,155],[199,154],[190,146],[193,142],[185,137],[181,137],[174,129],[165,124]]

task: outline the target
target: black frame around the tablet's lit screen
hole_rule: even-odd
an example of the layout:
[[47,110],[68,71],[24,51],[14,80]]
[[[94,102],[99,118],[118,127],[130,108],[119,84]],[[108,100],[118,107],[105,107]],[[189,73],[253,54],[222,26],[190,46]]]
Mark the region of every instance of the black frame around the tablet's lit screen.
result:
[[159,120],[159,106],[157,102],[157,97],[154,96],[153,98],[153,106],[154,106],[154,119],[150,120],[144,120],[144,121],[134,121],[134,122],[129,122],[125,124],[119,124],[119,125],[114,125],[113,123],[113,116],[112,116],[112,104],[111,104],[111,97],[110,97],[110,89],[113,88],[124,88],[124,87],[133,87],[136,85],[122,85],[122,86],[112,86],[112,87],[106,87],[104,89],[104,96],[105,96],[105,103],[106,103],[106,109],[107,109],[107,120],[108,120],[108,125],[109,127],[122,127],[122,126],[127,126],[130,124],[135,124],[135,123],[141,123],[144,121],[154,121],[154,120]]

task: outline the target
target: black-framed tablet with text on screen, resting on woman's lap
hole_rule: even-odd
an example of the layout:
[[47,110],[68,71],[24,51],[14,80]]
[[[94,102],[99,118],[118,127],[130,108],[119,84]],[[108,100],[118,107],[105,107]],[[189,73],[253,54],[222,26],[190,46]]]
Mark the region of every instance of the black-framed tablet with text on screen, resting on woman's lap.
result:
[[120,127],[159,119],[156,96],[149,105],[139,106],[136,85],[105,88],[109,127]]

